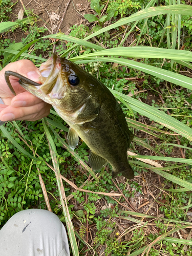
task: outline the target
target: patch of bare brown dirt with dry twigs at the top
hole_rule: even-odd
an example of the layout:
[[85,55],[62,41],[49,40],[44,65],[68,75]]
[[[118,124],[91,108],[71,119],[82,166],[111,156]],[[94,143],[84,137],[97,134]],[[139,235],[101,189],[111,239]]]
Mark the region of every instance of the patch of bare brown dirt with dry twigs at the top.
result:
[[[32,12],[40,18],[38,20],[39,26],[46,26],[46,28],[49,29],[47,34],[56,33],[60,22],[61,32],[69,34],[71,26],[87,23],[87,20],[84,19],[83,15],[90,12],[90,4],[88,0],[70,0],[70,3],[69,0],[53,0],[49,3],[44,0],[23,0],[23,4],[21,2],[22,1],[18,1],[17,4],[14,5],[12,10],[13,15],[10,20],[13,22],[17,20],[17,15],[20,9],[24,10],[24,5],[27,10],[32,10]],[[67,5],[68,8],[66,11]],[[65,16],[61,21],[65,11]],[[24,16],[24,18],[25,17],[27,16]],[[56,18],[55,20],[54,17]],[[23,31],[15,35],[14,39],[20,41],[20,38],[22,37],[26,37],[26,34]]]

